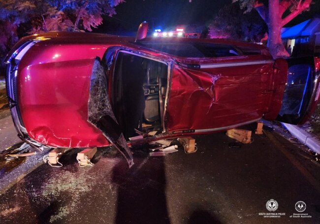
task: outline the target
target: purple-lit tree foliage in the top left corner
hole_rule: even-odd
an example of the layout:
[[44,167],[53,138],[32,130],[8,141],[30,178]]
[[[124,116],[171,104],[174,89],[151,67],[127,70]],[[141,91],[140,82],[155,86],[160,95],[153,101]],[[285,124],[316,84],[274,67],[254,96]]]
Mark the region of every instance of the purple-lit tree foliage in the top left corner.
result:
[[52,30],[92,31],[102,24],[102,15],[116,14],[115,6],[123,2],[125,0],[0,0],[0,57],[18,40],[20,26],[28,27],[29,34]]

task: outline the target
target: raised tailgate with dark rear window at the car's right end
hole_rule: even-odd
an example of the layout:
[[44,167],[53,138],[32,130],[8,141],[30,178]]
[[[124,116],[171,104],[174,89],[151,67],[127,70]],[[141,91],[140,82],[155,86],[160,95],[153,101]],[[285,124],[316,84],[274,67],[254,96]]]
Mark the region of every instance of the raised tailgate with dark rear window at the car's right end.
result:
[[289,58],[288,81],[277,117],[289,124],[303,124],[313,114],[319,101],[319,58]]

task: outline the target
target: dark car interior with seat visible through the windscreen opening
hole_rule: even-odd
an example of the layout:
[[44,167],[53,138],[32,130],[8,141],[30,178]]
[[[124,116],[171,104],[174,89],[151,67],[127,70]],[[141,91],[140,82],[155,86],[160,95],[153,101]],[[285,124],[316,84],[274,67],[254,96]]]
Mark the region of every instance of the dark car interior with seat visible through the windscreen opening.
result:
[[168,66],[164,62],[118,52],[111,100],[127,139],[137,136],[136,130],[162,131],[167,74]]

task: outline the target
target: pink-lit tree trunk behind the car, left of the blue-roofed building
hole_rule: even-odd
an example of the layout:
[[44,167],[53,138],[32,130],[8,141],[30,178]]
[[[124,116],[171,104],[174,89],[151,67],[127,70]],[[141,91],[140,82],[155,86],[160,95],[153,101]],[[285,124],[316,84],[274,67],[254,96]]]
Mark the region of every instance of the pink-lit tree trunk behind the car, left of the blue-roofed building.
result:
[[274,59],[289,56],[281,40],[282,18],[279,12],[279,6],[279,0],[269,0],[269,19],[267,23],[269,40],[267,46]]

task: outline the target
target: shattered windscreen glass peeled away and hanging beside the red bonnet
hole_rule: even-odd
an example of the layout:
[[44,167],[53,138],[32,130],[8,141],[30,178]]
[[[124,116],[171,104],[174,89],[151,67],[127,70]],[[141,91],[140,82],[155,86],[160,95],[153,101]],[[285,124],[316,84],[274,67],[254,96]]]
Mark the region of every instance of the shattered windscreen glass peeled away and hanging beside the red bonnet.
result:
[[132,153],[112,111],[107,87],[104,67],[97,57],[91,75],[88,121],[102,131],[105,138],[114,144],[131,167],[134,164]]

